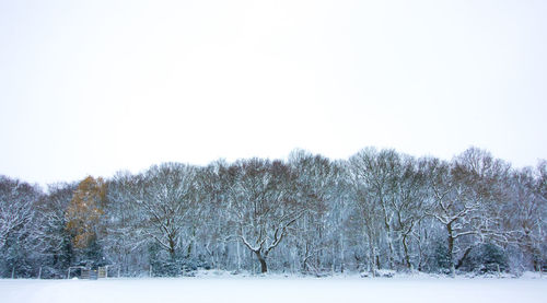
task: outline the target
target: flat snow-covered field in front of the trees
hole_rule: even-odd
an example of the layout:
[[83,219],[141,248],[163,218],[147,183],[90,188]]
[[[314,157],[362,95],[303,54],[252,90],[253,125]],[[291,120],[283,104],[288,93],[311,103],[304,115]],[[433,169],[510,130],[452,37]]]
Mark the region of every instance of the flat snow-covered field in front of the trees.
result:
[[547,302],[547,279],[523,277],[228,277],[0,280],[0,302]]

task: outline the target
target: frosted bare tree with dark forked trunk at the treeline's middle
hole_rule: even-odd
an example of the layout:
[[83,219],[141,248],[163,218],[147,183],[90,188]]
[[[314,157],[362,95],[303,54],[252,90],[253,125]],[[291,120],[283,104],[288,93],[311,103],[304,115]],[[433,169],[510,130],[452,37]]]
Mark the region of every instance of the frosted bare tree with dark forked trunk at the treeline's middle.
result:
[[267,258],[288,235],[289,228],[304,213],[294,197],[294,174],[280,161],[238,161],[230,167],[234,183],[230,207],[237,236],[267,272]]

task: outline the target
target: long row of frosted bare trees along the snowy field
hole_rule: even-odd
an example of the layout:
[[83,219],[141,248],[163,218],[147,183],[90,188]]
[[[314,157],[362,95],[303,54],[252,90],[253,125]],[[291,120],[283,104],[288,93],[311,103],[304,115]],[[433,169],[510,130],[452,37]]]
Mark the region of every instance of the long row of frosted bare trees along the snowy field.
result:
[[164,163],[47,193],[1,176],[0,276],[542,270],[546,214],[546,161],[516,170],[475,148],[450,162],[368,148]]

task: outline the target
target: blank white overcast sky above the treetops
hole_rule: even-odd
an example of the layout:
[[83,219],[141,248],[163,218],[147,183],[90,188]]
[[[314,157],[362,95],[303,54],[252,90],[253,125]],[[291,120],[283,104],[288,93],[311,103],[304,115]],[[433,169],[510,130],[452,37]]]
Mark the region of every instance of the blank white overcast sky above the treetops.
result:
[[0,0],[0,174],[547,155],[547,1]]

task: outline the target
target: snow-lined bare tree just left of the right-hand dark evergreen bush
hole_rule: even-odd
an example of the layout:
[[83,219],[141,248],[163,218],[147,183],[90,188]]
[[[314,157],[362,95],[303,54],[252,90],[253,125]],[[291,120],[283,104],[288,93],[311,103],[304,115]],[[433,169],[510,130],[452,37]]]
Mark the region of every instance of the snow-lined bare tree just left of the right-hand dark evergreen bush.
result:
[[[500,218],[492,210],[500,202],[497,189],[508,167],[480,150],[469,149],[451,164],[432,160],[428,170],[432,193],[428,214],[446,232],[446,254],[454,275],[477,244],[504,238],[498,229]],[[457,261],[456,254],[459,256]]]

